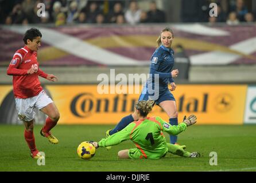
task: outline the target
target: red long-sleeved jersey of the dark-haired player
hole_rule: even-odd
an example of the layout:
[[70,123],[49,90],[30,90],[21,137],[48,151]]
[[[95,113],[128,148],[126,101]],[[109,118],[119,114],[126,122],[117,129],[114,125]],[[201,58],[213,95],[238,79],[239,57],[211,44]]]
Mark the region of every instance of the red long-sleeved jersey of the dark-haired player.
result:
[[[32,67],[38,68],[37,73],[28,74]],[[38,67],[37,51],[30,50],[27,46],[17,50],[7,69],[8,75],[13,75],[13,92],[17,98],[37,96],[42,91],[38,75],[46,78],[47,74]]]

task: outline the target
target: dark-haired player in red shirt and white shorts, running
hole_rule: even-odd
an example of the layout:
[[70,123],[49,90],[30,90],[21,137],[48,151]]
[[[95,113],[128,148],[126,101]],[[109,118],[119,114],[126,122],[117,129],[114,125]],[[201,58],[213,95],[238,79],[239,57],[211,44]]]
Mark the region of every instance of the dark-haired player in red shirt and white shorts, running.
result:
[[38,29],[27,30],[23,38],[25,46],[15,52],[7,69],[7,74],[13,75],[15,105],[18,110],[18,117],[25,124],[24,137],[33,158],[42,157],[34,140],[34,108],[41,110],[48,116],[40,131],[41,135],[48,138],[53,144],[59,142],[50,132],[60,118],[59,110],[52,99],[44,92],[38,79],[39,75],[49,81],[57,81],[55,75],[46,74],[39,69],[37,50],[41,46],[41,37],[42,34]]

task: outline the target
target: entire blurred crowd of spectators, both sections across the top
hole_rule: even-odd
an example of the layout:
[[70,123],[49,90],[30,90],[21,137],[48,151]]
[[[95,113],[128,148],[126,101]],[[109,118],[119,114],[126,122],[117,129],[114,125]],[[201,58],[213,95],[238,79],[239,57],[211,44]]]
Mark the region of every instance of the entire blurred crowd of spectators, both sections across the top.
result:
[[[250,3],[247,3],[249,1],[182,0],[180,22],[209,22],[211,24],[226,22],[228,25],[254,22],[255,14],[249,7]],[[157,7],[157,0],[144,1],[148,3],[146,10],[144,7],[139,7],[140,2],[142,1],[0,0],[0,23],[6,25],[54,23],[56,26],[61,26],[72,23],[128,23],[134,25],[136,23],[167,22],[168,17],[164,10]],[[211,2],[218,5],[218,17],[209,16]],[[45,14],[42,17],[37,15],[41,8],[38,3],[45,5]],[[168,10],[167,7],[164,9]],[[172,16],[172,12],[168,13],[169,16]]]

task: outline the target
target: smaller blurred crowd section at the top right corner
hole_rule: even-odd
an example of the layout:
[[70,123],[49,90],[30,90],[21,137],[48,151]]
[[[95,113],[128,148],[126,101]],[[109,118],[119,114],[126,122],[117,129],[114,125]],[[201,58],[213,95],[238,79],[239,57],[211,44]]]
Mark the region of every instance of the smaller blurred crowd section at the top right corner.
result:
[[[228,25],[238,25],[242,22],[254,22],[256,12],[253,12],[251,0],[182,0],[181,19],[183,22],[226,22]],[[210,17],[210,3],[218,5],[218,16]]]

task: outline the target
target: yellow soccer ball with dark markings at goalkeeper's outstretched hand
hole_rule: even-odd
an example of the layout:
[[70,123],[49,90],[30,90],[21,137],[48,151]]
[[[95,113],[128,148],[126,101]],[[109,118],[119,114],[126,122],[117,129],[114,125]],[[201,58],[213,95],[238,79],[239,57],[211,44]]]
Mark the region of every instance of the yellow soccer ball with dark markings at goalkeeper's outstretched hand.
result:
[[95,146],[87,141],[82,142],[77,147],[78,156],[84,160],[89,160],[90,158],[94,157],[95,151]]

